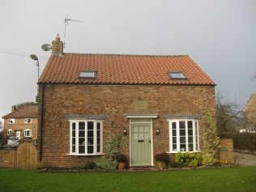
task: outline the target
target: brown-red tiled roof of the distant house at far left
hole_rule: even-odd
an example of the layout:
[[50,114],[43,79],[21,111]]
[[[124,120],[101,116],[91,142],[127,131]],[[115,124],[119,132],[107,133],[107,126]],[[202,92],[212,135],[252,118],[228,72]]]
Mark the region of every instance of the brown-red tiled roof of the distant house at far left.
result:
[[3,116],[3,119],[7,118],[37,118],[38,117],[38,105],[28,105],[16,109],[14,112]]

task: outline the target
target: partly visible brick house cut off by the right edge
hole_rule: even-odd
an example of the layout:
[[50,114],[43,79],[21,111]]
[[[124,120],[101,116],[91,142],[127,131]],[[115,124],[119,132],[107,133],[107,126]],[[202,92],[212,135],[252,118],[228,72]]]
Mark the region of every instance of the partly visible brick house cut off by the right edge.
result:
[[250,97],[245,106],[245,118],[248,125],[243,130],[247,133],[256,133],[256,92]]

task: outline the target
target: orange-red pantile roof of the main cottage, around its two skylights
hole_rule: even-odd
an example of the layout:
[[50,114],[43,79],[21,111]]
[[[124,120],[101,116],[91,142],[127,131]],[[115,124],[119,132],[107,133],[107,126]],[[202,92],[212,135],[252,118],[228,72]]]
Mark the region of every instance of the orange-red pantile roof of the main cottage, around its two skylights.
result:
[[[96,70],[96,79],[79,78],[80,70]],[[171,71],[186,79],[169,79]],[[215,85],[189,56],[79,53],[51,56],[40,83]]]

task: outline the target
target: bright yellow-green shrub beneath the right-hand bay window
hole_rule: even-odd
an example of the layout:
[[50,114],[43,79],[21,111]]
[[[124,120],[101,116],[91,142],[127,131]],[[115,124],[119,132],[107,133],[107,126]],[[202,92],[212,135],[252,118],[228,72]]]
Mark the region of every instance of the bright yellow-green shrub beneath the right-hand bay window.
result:
[[201,153],[181,153],[178,152],[175,156],[177,167],[198,167],[202,164],[203,158]]

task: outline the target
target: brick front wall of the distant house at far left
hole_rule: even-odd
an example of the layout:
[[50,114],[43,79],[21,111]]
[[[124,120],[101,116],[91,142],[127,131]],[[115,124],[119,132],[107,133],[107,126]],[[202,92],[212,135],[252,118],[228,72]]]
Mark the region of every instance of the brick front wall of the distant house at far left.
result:
[[32,123],[25,123],[24,118],[15,118],[14,124],[9,124],[8,119],[4,119],[3,134],[6,137],[7,130],[12,130],[12,134],[15,136],[15,130],[20,130],[20,138],[24,137],[24,130],[32,130],[32,138],[37,138],[37,118],[32,118]]

